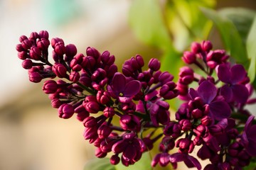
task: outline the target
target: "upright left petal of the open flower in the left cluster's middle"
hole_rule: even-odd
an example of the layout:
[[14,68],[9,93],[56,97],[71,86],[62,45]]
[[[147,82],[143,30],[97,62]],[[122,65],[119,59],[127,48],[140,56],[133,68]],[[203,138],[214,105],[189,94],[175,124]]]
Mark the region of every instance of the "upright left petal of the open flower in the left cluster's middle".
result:
[[126,79],[124,77],[124,74],[116,72],[112,79],[112,91],[118,94],[122,93],[124,91],[125,84],[126,84]]

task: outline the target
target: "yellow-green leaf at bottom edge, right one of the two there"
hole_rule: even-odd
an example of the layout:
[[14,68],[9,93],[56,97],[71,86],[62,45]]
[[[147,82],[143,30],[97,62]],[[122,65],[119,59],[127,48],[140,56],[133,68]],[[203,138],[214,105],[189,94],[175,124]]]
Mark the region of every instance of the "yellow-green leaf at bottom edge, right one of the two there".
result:
[[119,163],[115,166],[116,170],[150,170],[153,169],[151,167],[151,157],[148,152],[142,154],[142,158],[139,159],[138,162],[136,162],[133,165],[130,166],[124,166],[122,163]]

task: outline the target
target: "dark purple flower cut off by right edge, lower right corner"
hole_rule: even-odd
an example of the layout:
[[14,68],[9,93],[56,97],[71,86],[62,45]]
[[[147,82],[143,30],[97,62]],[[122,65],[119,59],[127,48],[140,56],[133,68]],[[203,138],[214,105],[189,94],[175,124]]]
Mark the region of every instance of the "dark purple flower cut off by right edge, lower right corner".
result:
[[251,115],[245,123],[245,130],[242,133],[242,143],[252,157],[256,156],[256,125],[252,125],[254,116]]

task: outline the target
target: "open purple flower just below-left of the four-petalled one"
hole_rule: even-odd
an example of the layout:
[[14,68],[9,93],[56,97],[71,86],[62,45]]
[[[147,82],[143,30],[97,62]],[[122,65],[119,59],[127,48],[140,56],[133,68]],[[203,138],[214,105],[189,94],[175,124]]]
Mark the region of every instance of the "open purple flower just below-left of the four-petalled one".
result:
[[228,103],[224,100],[214,100],[217,93],[218,89],[209,81],[203,81],[197,91],[189,89],[189,94],[192,99],[200,97],[203,104],[209,106],[210,116],[215,118],[215,120],[228,118],[231,114],[230,106],[228,106]]

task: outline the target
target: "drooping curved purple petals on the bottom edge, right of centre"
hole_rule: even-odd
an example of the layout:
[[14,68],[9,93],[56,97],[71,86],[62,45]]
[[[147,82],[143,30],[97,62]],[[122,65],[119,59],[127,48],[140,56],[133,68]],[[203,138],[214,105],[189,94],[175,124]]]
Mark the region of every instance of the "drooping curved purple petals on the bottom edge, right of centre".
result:
[[196,167],[196,169],[200,170],[202,168],[200,162],[195,157],[192,157],[188,154],[171,154],[169,156],[169,160],[171,163],[184,162],[188,168]]

